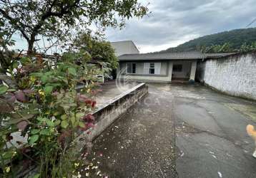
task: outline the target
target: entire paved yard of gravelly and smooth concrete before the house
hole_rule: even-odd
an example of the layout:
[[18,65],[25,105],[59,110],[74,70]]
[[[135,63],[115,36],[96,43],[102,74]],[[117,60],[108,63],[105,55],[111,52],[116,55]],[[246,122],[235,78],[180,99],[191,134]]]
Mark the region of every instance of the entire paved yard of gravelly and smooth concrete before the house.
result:
[[255,110],[201,85],[149,84],[94,141],[92,162],[109,177],[256,177]]

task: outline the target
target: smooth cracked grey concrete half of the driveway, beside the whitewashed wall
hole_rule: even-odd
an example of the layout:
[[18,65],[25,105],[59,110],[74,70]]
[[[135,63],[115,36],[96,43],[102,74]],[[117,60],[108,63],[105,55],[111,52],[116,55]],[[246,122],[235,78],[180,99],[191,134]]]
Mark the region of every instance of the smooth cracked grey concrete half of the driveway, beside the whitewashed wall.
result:
[[245,131],[256,125],[255,103],[201,85],[172,85],[171,92],[179,177],[256,177]]

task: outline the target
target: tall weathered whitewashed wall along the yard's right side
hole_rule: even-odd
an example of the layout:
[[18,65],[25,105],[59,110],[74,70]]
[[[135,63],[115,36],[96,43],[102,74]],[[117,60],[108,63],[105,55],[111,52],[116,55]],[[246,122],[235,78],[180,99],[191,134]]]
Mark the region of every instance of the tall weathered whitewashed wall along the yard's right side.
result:
[[196,79],[223,93],[256,100],[256,52],[200,62]]

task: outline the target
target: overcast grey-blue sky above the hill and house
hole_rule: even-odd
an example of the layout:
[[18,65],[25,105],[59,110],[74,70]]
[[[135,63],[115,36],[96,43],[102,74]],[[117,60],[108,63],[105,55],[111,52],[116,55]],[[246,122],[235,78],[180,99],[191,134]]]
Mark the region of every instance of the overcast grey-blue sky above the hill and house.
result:
[[[256,18],[255,0],[139,0],[149,16],[107,29],[109,41],[132,40],[141,53],[161,51],[211,33],[245,28]],[[250,27],[255,27],[256,22]]]

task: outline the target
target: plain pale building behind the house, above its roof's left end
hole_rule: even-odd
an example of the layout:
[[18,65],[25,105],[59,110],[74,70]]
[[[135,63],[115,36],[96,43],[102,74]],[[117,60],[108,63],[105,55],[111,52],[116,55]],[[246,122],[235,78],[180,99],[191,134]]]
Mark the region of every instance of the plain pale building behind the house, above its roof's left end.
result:
[[139,53],[137,46],[133,41],[117,41],[111,42],[116,56],[122,56],[123,54],[136,54]]

